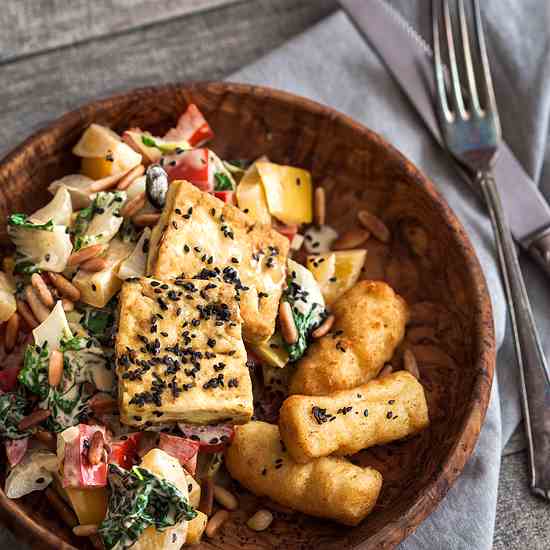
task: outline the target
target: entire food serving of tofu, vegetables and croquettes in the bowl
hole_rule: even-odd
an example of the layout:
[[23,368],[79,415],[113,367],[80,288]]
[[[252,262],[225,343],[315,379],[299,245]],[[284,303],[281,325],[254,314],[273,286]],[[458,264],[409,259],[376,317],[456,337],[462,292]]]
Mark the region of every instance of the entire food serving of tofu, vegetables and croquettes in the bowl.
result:
[[361,280],[302,168],[225,160],[189,105],[166,135],[90,125],[79,174],[13,213],[0,272],[4,491],[44,491],[98,548],[180,548],[263,502],[356,525],[382,485],[345,456],[428,423],[408,307]]

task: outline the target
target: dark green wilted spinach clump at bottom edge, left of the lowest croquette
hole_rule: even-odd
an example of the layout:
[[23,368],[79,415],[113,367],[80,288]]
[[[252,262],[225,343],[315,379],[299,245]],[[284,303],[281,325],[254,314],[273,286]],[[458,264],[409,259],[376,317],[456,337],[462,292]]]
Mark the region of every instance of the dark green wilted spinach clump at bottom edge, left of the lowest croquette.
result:
[[99,526],[107,550],[131,547],[151,525],[162,531],[197,516],[173,483],[145,468],[109,464],[109,486],[109,507]]

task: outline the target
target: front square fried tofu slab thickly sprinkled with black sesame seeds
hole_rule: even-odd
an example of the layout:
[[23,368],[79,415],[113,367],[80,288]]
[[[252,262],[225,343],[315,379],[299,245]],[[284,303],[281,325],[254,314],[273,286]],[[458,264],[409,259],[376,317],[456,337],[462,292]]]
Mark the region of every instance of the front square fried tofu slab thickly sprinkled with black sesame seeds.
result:
[[250,420],[252,385],[231,285],[134,279],[124,283],[119,307],[122,423]]

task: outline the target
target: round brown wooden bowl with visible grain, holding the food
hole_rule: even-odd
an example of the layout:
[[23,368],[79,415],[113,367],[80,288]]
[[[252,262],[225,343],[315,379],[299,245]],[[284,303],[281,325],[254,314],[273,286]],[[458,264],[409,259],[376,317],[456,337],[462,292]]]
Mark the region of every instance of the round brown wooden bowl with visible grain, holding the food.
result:
[[[10,212],[44,204],[47,185],[78,170],[71,148],[91,122],[162,135],[190,102],[215,129],[211,146],[223,158],[267,154],[311,170],[327,190],[328,220],[338,230],[355,226],[361,208],[385,221],[391,243],[368,241],[364,277],[385,279],[412,306],[404,345],[418,360],[432,420],[417,437],[353,457],[384,476],[379,503],[358,527],[280,511],[268,531],[254,533],[244,523],[260,503],[235,487],[241,511],[200,548],[393,548],[436,508],[472,453],[489,401],[495,347],[485,281],[463,227],[433,184],[379,135],[328,107],[258,86],[212,82],[131,91],[63,116],[4,159],[0,238],[5,242]],[[10,501],[1,493],[0,505],[7,525],[37,547],[88,545],[72,536],[42,494]]]

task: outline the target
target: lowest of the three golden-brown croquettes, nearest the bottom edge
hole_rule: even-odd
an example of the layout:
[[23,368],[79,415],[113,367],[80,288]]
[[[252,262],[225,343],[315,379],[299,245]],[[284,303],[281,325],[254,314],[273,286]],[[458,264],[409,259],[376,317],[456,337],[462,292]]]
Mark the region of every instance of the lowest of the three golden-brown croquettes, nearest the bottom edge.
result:
[[357,525],[370,513],[382,487],[378,471],[343,458],[296,463],[282,448],[279,428],[265,422],[235,428],[225,463],[231,476],[255,495],[345,525]]

